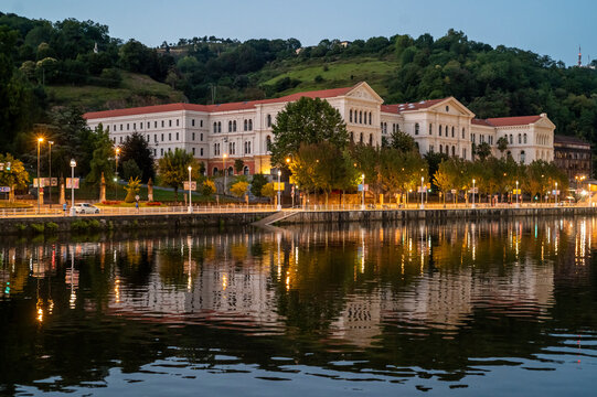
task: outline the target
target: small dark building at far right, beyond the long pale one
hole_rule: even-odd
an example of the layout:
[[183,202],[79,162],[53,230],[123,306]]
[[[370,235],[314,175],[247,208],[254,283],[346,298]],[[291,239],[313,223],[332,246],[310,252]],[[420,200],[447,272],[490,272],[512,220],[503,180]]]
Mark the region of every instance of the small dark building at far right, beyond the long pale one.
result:
[[593,175],[590,143],[576,137],[554,136],[554,161],[558,169],[574,182],[578,178]]

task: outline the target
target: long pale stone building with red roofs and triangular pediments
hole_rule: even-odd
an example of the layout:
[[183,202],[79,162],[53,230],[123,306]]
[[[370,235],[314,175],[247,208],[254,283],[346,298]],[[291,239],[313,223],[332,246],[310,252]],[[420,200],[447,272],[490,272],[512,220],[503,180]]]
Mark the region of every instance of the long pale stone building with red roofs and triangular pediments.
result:
[[380,146],[399,128],[409,133],[422,154],[429,151],[472,159],[472,147],[488,142],[493,154],[498,139],[508,139],[507,152],[516,161],[552,161],[555,126],[545,114],[480,120],[456,98],[383,105],[366,83],[353,87],[298,93],[280,98],[218,105],[170,104],[85,114],[90,128],[103,125],[116,144],[132,132],[146,137],[156,159],[181,148],[205,163],[207,174],[242,159],[243,173],[270,173],[268,142],[271,126],[286,104],[301,97],[322,98],[347,122],[354,142]]

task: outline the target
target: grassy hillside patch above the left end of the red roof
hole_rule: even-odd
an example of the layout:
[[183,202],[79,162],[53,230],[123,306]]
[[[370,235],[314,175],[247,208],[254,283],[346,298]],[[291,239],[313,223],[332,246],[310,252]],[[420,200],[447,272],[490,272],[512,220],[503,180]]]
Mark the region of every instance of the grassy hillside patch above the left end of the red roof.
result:
[[121,72],[118,88],[97,86],[47,86],[50,100],[55,106],[79,106],[85,110],[146,106],[183,101],[184,95],[152,78]]

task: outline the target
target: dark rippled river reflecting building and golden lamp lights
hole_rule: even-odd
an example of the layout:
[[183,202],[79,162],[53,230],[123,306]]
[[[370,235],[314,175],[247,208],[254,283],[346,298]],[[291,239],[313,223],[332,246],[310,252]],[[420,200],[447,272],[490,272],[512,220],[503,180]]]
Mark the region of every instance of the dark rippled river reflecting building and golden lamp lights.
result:
[[583,395],[596,226],[6,240],[0,391]]

